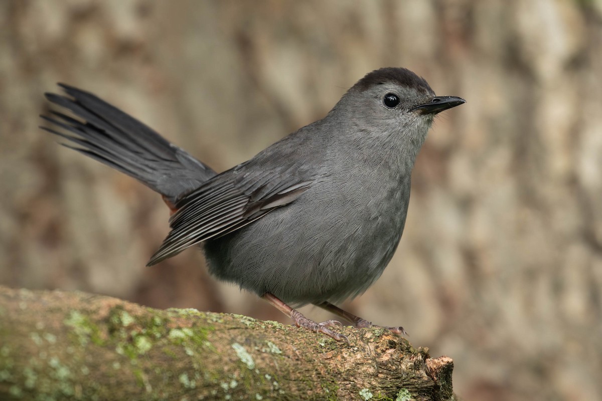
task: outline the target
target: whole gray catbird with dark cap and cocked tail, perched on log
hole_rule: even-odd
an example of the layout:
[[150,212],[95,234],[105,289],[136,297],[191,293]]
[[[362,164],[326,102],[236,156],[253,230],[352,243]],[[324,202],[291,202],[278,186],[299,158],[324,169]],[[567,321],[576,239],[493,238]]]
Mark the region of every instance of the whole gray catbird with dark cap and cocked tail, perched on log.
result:
[[46,98],[82,120],[42,116],[76,136],[43,128],[159,192],[172,210],[172,230],[149,266],[201,244],[215,277],[267,299],[297,326],[347,343],[330,328],[341,323],[316,323],[289,305],[315,304],[372,326],[330,302],[379,278],[402,236],[412,167],[433,117],[465,102],[435,96],[407,69],[379,69],[322,120],[217,174],[93,94],[59,85],[70,98]]

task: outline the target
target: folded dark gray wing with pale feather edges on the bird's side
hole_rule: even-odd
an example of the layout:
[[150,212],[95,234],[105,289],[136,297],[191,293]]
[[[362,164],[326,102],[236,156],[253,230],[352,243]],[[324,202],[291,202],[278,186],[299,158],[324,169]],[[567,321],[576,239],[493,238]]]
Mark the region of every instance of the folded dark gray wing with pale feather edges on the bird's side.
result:
[[206,239],[232,233],[291,203],[315,179],[295,164],[268,170],[247,164],[219,174],[176,202],[178,211],[170,218],[172,231],[147,266]]

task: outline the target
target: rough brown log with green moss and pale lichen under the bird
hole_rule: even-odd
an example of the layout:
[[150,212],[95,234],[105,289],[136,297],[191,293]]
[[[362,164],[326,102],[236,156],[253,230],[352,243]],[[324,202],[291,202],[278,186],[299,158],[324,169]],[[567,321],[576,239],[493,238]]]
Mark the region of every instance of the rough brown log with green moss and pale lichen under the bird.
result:
[[450,400],[453,362],[382,329],[352,346],[276,322],[0,287],[0,399]]

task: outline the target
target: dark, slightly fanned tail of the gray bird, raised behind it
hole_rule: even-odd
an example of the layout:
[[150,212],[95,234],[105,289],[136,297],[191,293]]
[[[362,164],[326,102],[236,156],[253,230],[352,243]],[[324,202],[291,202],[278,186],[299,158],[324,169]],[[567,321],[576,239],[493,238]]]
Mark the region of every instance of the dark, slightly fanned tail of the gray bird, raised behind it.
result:
[[91,93],[58,84],[71,96],[46,93],[46,99],[83,121],[60,112],[41,117],[76,136],[42,129],[76,144],[63,144],[96,159],[175,201],[216,175],[207,165],[170,144],[161,135]]

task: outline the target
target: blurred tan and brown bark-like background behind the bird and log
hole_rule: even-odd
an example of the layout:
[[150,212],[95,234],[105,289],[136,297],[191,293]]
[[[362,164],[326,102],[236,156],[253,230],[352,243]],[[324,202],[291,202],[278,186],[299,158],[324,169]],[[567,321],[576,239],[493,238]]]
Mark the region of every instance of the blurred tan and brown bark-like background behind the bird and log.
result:
[[403,66],[467,104],[418,156],[393,262],[342,306],[452,357],[466,400],[601,399],[602,1],[23,0],[0,26],[0,284],[288,323],[199,251],[145,268],[163,201],[38,129],[42,94],[92,91],[223,171]]

